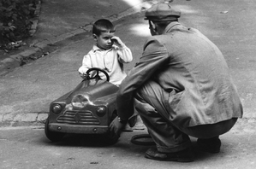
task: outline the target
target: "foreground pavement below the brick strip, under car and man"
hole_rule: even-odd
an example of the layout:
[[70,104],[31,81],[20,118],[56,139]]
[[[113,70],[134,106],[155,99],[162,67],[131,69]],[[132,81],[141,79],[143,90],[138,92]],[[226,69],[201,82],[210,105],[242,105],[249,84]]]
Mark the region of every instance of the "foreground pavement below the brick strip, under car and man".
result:
[[[253,129],[255,132],[255,128]],[[242,131],[242,132],[241,132]],[[146,131],[124,132],[120,141],[104,147],[95,137],[68,136],[51,143],[43,128],[0,128],[0,168],[98,168],[98,169],[253,169],[256,168],[256,135],[234,128],[223,135],[218,154],[200,152],[191,137],[195,161],[191,163],[147,160],[148,146],[130,143],[131,137]]]

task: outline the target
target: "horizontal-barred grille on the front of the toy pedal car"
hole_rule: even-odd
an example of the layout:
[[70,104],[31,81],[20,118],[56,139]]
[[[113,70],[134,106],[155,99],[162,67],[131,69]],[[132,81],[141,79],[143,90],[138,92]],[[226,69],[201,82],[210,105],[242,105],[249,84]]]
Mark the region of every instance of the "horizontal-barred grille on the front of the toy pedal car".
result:
[[77,125],[99,125],[99,120],[89,111],[78,112],[68,110],[57,118],[57,122]]

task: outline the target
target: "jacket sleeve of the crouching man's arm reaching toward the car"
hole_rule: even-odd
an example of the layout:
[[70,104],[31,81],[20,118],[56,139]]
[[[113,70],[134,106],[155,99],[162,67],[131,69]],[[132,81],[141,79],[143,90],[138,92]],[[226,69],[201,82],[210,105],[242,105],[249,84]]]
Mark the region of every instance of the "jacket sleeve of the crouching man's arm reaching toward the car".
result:
[[158,67],[168,64],[168,52],[164,44],[159,43],[156,38],[149,38],[144,45],[144,51],[135,67],[122,81],[117,92],[117,114],[122,119],[128,119],[134,114],[134,92],[140,86],[152,79]]

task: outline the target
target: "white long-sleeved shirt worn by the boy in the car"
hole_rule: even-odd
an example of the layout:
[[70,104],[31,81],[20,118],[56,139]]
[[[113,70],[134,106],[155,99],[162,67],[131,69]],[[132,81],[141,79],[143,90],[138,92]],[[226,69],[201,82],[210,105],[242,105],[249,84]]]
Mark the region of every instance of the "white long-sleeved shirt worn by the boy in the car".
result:
[[[114,44],[110,50],[103,50],[93,45],[92,50],[84,56],[82,66],[78,71],[79,73],[86,73],[89,68],[98,67],[109,74],[110,83],[120,85],[127,76],[123,69],[123,63],[128,63],[132,60],[132,52],[125,44],[120,47]],[[99,76],[105,79],[104,73],[99,73]]]

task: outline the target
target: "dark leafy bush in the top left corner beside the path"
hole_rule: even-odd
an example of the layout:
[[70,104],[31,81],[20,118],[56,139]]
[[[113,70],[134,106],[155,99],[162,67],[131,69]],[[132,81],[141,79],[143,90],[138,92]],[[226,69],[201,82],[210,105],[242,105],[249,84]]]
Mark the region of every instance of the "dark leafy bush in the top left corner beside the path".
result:
[[5,42],[29,36],[36,0],[0,0],[0,33]]

